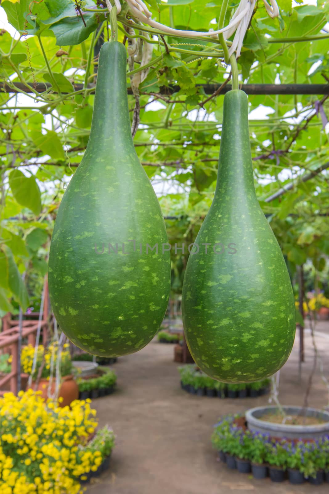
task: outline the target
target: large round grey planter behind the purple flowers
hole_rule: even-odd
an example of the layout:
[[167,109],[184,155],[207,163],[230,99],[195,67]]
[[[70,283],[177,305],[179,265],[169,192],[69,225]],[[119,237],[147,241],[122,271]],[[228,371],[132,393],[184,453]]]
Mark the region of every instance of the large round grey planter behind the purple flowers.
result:
[[[283,407],[284,411],[289,414],[298,414],[304,412],[302,407]],[[315,408],[308,408],[306,416],[317,417],[326,420],[323,424],[316,425],[290,425],[275,424],[260,420],[265,413],[274,412],[277,407],[256,407],[248,410],[245,414],[247,427],[253,432],[261,432],[269,436],[288,439],[319,439],[329,435],[329,412],[323,412]]]

